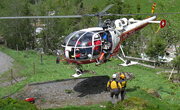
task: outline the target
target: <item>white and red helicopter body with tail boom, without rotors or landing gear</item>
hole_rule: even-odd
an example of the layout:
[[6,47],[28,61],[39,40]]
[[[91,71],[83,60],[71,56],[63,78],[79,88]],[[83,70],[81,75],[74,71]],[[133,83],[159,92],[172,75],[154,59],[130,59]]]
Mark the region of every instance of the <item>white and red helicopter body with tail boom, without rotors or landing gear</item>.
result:
[[69,34],[63,42],[65,60],[76,64],[89,64],[101,60],[106,62],[117,54],[120,44],[147,26],[156,16],[144,20],[126,18],[115,20],[115,27],[93,27]]

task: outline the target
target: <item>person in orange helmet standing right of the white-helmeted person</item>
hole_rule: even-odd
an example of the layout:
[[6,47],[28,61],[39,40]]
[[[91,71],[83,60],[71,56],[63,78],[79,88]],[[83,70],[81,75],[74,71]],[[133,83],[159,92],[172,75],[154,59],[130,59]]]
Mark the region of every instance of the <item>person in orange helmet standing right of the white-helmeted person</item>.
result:
[[126,92],[125,88],[127,86],[127,82],[125,80],[125,75],[124,74],[120,75],[119,82],[120,82],[121,87],[122,87],[121,92],[120,92],[120,94],[121,94],[121,101],[123,101],[124,100],[124,96],[125,96],[125,92]]

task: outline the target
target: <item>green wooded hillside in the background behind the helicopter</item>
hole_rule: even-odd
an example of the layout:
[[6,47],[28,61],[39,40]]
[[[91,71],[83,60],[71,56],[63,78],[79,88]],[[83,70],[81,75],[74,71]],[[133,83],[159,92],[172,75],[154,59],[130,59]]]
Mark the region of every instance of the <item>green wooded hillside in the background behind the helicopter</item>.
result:
[[[11,1],[11,2],[10,2]],[[94,14],[102,11],[107,5],[114,4],[107,13],[113,14],[139,14],[149,13],[149,15],[125,16],[127,18],[144,19],[151,16],[153,3],[156,3],[155,13],[180,12],[178,0],[9,0],[2,1],[0,16],[47,16],[54,15],[84,15]],[[121,16],[122,18],[123,16]],[[105,16],[104,19],[115,20],[118,16]],[[144,28],[141,32],[132,36],[131,39],[123,42],[126,55],[139,57],[143,47],[158,37],[165,46],[179,44],[179,18],[180,14],[159,14],[158,20],[166,19],[167,26],[155,34],[159,25],[152,24]],[[34,26],[34,23],[37,25]],[[35,35],[35,28],[40,24],[45,24],[45,29]],[[83,18],[54,18],[54,19],[12,19],[1,20],[0,35],[7,41],[11,49],[20,50],[26,48],[43,48],[45,53],[49,50],[60,49],[62,36],[67,36],[73,31],[97,26],[97,17]],[[16,28],[14,28],[16,27]],[[40,43],[36,39],[40,39]],[[144,42],[144,43],[142,43]],[[156,41],[158,42],[158,41]],[[128,44],[128,45],[127,45]],[[164,46],[163,46],[164,48]],[[152,57],[152,56],[151,56]]]

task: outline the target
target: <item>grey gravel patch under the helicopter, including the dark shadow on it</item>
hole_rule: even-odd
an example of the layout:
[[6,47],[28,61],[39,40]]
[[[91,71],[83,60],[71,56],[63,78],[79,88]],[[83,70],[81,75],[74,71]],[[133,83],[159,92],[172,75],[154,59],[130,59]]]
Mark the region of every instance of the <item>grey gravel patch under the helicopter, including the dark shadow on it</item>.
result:
[[110,93],[106,91],[108,80],[109,76],[93,76],[34,83],[11,97],[19,100],[33,97],[35,105],[41,109],[101,104],[110,98]]

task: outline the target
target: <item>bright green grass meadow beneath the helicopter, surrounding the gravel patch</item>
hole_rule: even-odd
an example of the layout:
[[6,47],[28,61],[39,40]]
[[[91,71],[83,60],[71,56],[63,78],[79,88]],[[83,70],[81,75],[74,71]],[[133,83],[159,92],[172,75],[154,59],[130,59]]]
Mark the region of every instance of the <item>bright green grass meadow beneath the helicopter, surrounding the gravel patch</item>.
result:
[[[40,54],[34,51],[29,51],[28,58],[26,58],[24,57],[26,55],[25,51],[19,51],[18,53],[17,51],[10,49],[5,50],[4,48],[0,48],[0,50],[14,59],[14,66],[12,69],[16,70],[16,73],[14,73],[17,74],[16,77],[27,77],[20,83],[16,83],[9,87],[1,87],[0,97],[21,91],[25,85],[29,83],[68,79],[72,78],[70,75],[75,73],[73,65],[64,65],[62,62],[56,64],[56,56],[43,55],[43,64],[41,64]],[[168,76],[165,76],[163,73],[156,74],[162,69],[151,69],[140,65],[119,67],[117,65],[122,63],[120,60],[111,60],[112,61],[107,62],[100,67],[97,67],[94,63],[92,63],[83,65],[83,68],[86,70],[93,70],[97,75],[109,75],[110,77],[112,77],[112,74],[116,72],[132,72],[135,75],[135,79],[128,81],[126,94],[128,98],[139,97],[141,99],[147,100],[154,106],[163,109],[170,107],[176,108],[176,106],[173,105],[180,106],[178,101],[180,100],[179,84],[172,84],[171,81],[167,80]],[[33,73],[33,62],[35,62],[35,74]],[[10,81],[10,78],[8,78],[9,74],[10,72],[8,71],[4,73],[1,78],[6,78]],[[81,77],[91,76],[94,76],[94,74],[89,72]],[[157,90],[161,95],[162,100],[147,94],[144,90],[142,90],[143,88]],[[72,108],[76,109],[77,107]]]

